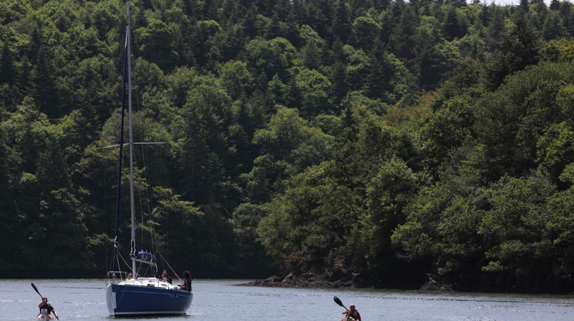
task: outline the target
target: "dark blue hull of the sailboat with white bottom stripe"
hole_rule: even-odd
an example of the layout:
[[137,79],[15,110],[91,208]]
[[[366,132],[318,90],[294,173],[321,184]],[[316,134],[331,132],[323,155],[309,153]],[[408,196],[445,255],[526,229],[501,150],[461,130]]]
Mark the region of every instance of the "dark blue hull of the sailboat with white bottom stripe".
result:
[[141,285],[109,284],[106,305],[114,316],[185,314],[193,293]]

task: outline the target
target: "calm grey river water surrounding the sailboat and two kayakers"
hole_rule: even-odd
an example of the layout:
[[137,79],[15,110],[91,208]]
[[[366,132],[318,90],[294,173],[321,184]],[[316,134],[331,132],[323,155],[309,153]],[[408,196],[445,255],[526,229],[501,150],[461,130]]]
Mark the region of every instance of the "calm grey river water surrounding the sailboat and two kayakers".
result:
[[[0,320],[35,320],[40,296],[60,320],[112,320],[103,280],[0,280]],[[243,280],[196,280],[187,315],[129,320],[328,320],[339,321],[355,303],[364,321],[381,320],[574,320],[574,298],[492,293],[430,293],[372,289],[293,289],[236,286]]]

